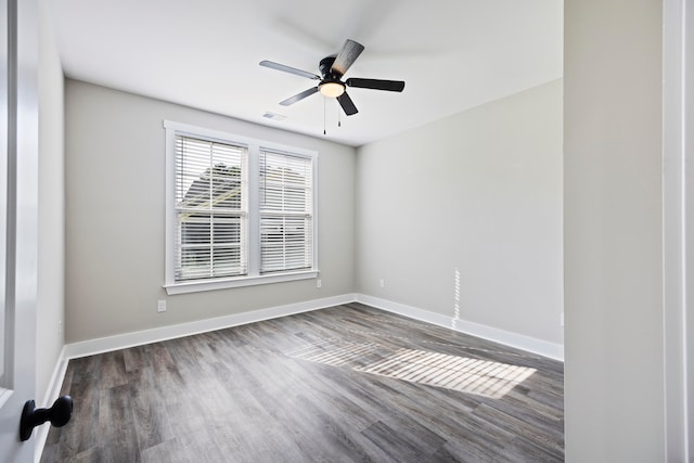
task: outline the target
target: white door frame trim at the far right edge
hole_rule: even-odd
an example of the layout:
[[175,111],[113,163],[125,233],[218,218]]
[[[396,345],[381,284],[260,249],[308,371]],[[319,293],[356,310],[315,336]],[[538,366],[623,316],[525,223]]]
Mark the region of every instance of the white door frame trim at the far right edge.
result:
[[[687,5],[689,3],[689,5]],[[687,7],[690,7],[687,9]],[[694,458],[694,2],[663,2],[666,461]],[[692,299],[692,300],[690,300]]]

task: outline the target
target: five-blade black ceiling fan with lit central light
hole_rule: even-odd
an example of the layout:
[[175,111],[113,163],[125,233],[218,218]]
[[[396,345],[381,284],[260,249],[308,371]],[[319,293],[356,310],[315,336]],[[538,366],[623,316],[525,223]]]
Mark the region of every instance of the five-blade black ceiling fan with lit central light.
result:
[[325,97],[337,99],[345,114],[351,116],[352,114],[357,114],[358,111],[357,106],[355,106],[355,103],[346,92],[347,87],[387,90],[391,92],[401,92],[402,89],[404,89],[404,81],[402,80],[362,79],[351,77],[343,81],[343,76],[347,73],[349,66],[355,63],[362,51],[364,51],[364,47],[361,43],[347,39],[339,53],[326,56],[320,61],[318,66],[321,73],[320,76],[306,70],[285,66],[284,64],[274,63],[272,61],[261,61],[260,66],[283,70],[285,73],[295,74],[313,80],[320,80],[317,87],[311,87],[308,90],[304,90],[303,92],[295,94],[294,97],[287,98],[280,102],[281,105],[288,106],[312,95],[313,93],[321,92]]

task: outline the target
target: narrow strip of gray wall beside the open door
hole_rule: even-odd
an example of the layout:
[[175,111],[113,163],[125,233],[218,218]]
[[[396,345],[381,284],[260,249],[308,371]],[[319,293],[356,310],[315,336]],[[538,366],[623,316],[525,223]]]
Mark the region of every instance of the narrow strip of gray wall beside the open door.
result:
[[63,348],[65,308],[64,79],[49,7],[46,1],[39,5],[37,404],[46,396]]

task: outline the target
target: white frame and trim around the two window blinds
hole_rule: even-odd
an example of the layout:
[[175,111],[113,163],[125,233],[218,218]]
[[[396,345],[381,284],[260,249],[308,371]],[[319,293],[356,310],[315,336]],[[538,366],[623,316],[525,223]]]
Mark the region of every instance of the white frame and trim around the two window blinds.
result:
[[[166,133],[166,214],[165,214],[165,281],[167,294],[184,294],[231,287],[253,286],[297,280],[314,279],[319,274],[318,262],[318,152],[288,146],[265,140],[228,133],[224,131],[196,127],[188,124],[164,120]],[[246,275],[210,278],[205,280],[176,281],[176,246],[178,217],[176,210],[176,137],[184,136],[202,140],[229,143],[247,150],[246,194],[248,195],[248,230]],[[260,155],[270,151],[291,156],[309,158],[312,167],[312,213],[311,213],[311,268],[260,274]]]

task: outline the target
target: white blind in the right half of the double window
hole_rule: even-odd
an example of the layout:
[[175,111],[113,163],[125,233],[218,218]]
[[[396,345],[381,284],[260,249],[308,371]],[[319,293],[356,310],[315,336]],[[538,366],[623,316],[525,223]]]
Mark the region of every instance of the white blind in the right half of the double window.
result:
[[313,163],[260,152],[260,273],[313,265]]

